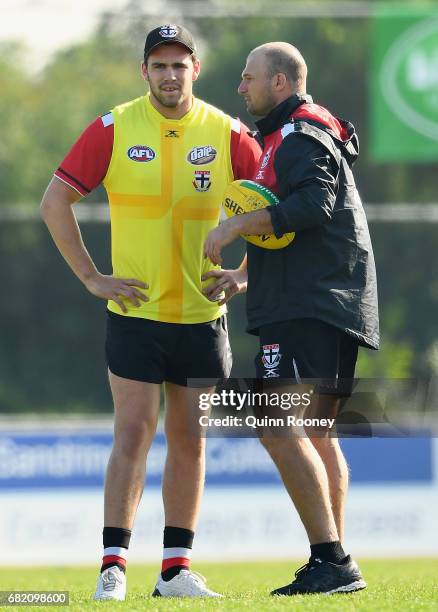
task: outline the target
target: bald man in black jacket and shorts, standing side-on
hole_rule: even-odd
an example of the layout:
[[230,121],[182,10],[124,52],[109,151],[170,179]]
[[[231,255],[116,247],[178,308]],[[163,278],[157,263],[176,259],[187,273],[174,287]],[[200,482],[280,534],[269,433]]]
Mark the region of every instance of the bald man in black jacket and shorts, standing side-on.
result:
[[[306,94],[307,67],[287,43],[268,43],[247,59],[239,93],[257,122],[264,154],[254,180],[277,206],[235,216],[210,232],[205,255],[240,234],[295,232],[281,250],[248,244],[248,331],[260,337],[257,376],[317,379],[312,416],[336,416],[351,393],[358,346],[379,345],[377,285],[368,226],[351,166],[358,139]],[[241,273],[242,267],[239,269]],[[214,299],[245,289],[236,271],[212,273]],[[240,278],[240,277],[239,277]],[[336,437],[263,437],[306,528],[311,557],[275,595],[366,587],[341,542],[348,468]]]

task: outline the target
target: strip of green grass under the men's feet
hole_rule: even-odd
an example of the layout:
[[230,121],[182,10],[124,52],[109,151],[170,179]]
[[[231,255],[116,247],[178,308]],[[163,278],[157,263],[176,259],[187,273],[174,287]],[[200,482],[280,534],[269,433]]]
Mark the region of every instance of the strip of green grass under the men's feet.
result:
[[[350,595],[270,597],[274,587],[290,582],[300,563],[199,564],[193,569],[208,576],[208,585],[225,595],[223,600],[152,598],[157,566],[128,567],[128,597],[123,603],[93,602],[96,568],[14,568],[0,571],[1,590],[67,590],[70,611],[105,610],[337,610],[399,612],[438,611],[438,559],[368,560],[361,568],[368,589]],[[4,610],[16,610],[11,606]],[[32,606],[31,610],[48,610]],[[57,608],[62,609],[62,608]]]

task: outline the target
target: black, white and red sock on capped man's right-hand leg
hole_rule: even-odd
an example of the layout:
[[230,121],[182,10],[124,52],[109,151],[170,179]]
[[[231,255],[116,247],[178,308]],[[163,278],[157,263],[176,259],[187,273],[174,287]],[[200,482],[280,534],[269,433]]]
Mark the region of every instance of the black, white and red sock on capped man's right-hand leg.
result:
[[161,577],[165,582],[172,580],[182,569],[189,569],[194,536],[190,529],[164,528]]

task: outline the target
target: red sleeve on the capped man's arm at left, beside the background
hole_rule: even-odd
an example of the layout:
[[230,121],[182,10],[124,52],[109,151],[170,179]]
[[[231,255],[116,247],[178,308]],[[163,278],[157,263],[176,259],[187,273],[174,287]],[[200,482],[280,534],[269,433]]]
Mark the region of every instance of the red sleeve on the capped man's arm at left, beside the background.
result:
[[82,132],[55,172],[55,176],[81,195],[87,195],[105,178],[114,141],[112,114],[98,117]]

